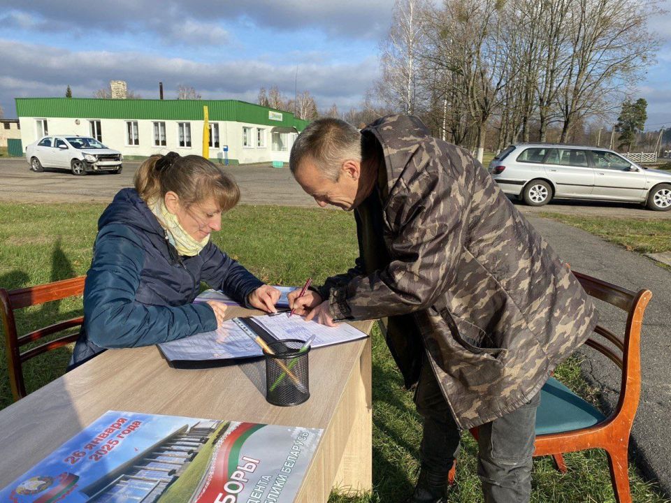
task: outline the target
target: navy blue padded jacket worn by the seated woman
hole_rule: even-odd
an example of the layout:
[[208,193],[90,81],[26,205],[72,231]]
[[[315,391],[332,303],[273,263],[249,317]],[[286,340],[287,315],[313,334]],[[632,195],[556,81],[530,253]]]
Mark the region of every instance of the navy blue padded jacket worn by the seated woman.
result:
[[192,304],[201,281],[243,305],[263,285],[211,241],[196,256],[178,256],[137,191],[122,189],[98,221],[84,325],[70,368],[105,348],[149,346],[215,330],[212,309]]

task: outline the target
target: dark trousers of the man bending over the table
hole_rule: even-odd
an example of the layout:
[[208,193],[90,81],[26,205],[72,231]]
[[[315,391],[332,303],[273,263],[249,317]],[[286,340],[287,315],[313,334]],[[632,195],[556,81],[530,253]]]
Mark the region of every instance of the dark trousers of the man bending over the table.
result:
[[[454,422],[433,370],[424,362],[414,396],[424,417],[421,466],[445,474],[459,453],[461,432]],[[479,426],[477,474],[485,503],[527,503],[531,495],[531,466],[536,409],[540,393],[516,411]]]

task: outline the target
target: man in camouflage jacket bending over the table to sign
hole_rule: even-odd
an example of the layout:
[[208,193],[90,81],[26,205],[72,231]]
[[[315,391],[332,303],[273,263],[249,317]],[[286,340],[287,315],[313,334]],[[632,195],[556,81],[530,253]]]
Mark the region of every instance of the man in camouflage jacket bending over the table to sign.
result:
[[442,502],[461,430],[479,426],[486,502],[528,502],[539,391],[596,325],[568,266],[465,150],[415,117],[361,133],[312,122],[289,166],[324,207],[354,210],[354,268],[289,301],[307,319],[387,318],[387,344],[424,417],[408,502]]

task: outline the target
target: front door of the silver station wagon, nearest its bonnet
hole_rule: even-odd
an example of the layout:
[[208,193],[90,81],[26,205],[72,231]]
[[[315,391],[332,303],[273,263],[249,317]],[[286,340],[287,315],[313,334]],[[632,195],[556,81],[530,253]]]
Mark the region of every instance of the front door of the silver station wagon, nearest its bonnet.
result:
[[596,177],[594,196],[616,201],[643,201],[645,173],[630,171],[631,163],[613,152],[591,150],[590,154]]

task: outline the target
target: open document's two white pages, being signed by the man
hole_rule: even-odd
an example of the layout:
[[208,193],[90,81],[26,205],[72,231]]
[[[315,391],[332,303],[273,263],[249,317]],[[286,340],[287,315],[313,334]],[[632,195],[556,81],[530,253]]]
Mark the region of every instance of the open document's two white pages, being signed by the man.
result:
[[[327,327],[315,321],[305,321],[301,316],[280,313],[275,316],[254,316],[252,320],[265,328],[277,340],[299,339],[307,341],[312,335],[311,347],[330,346],[367,335],[347,323]],[[159,344],[161,353],[169,361],[235,360],[263,356],[263,351],[233,320],[224,321],[212,332]]]

